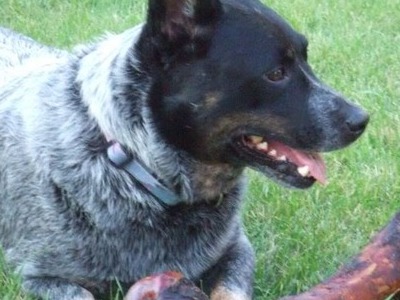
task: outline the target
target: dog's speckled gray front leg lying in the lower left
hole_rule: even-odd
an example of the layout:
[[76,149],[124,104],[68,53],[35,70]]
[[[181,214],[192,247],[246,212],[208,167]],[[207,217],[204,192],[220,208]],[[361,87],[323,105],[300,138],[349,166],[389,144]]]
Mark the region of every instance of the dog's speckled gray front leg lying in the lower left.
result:
[[29,294],[46,300],[95,300],[93,295],[77,284],[59,278],[29,278],[23,281]]

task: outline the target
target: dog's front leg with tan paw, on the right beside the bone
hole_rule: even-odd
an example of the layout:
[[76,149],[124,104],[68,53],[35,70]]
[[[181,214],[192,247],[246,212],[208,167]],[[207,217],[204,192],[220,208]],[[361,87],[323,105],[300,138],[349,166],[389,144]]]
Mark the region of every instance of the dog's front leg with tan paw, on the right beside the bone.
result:
[[211,300],[249,300],[253,294],[254,253],[247,237],[241,233],[204,276]]

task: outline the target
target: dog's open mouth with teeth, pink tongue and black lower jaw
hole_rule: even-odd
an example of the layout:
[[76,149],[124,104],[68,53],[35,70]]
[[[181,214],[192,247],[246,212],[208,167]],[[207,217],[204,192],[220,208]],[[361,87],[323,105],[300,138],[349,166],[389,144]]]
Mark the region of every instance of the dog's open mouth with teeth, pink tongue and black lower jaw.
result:
[[241,156],[251,159],[257,169],[261,167],[260,171],[272,173],[280,181],[300,188],[311,186],[315,181],[326,183],[326,167],[319,153],[293,149],[256,135],[241,136],[236,145]]

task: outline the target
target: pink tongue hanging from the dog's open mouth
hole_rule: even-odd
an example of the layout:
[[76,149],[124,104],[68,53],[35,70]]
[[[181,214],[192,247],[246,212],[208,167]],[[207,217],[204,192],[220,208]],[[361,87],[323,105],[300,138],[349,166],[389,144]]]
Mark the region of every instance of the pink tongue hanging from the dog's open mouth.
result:
[[268,148],[275,149],[278,157],[285,155],[287,159],[298,167],[308,166],[310,175],[319,183],[326,184],[326,167],[325,163],[318,153],[306,153],[300,150],[289,148],[279,142],[269,142]]

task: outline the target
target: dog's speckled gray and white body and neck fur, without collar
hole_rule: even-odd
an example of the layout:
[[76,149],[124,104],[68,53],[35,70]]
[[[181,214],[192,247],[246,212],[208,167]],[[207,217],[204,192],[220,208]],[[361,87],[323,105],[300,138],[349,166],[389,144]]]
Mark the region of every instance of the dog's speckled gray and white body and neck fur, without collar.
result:
[[[203,280],[206,290],[224,286],[249,298],[254,258],[239,217],[242,170],[204,166],[161,142],[145,101],[151,78],[130,82],[133,117],[112,101],[124,97],[123,70],[127,63],[135,69],[132,46],[140,32],[139,26],[69,54],[0,30],[6,259],[28,292],[50,300],[102,299],[114,280],[129,287],[165,270]],[[29,59],[7,60],[5,48]],[[178,187],[188,205],[164,208],[115,169],[106,137]]]

